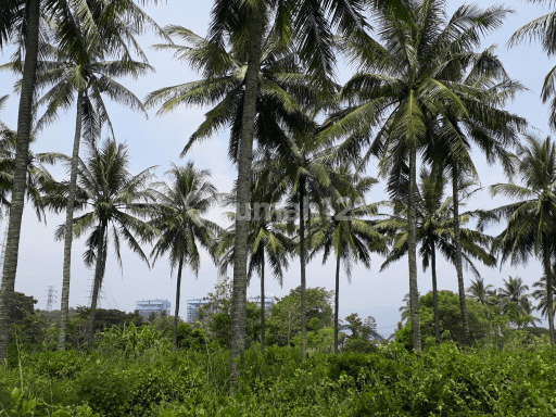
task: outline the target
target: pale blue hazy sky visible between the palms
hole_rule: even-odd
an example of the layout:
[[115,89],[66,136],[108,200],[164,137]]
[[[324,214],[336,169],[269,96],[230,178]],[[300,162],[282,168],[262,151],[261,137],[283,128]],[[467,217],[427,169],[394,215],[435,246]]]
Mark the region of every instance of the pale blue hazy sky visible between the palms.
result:
[[[208,27],[211,1],[191,0],[168,0],[157,7],[147,7],[148,13],[161,25],[176,24],[185,26],[198,35],[204,36]],[[458,0],[447,1],[447,13],[452,14],[463,2]],[[482,0],[481,8],[500,4],[500,1]],[[544,76],[556,64],[556,60],[546,58],[541,46],[536,42],[525,42],[518,47],[508,49],[507,41],[511,34],[521,25],[539,17],[547,12],[540,5],[529,4],[525,1],[507,0],[506,7],[515,12],[506,20],[504,26],[489,36],[482,43],[483,48],[497,45],[497,53],[505,64],[509,75],[528,87],[528,91],[520,93],[516,101],[508,109],[526,117],[531,126],[538,129],[540,137],[549,135],[547,127],[548,106],[541,103],[540,91]],[[153,35],[144,35],[140,38],[141,46],[149,56],[150,64],[154,66],[155,73],[141,79],[124,80],[131,91],[139,98],[144,98],[149,92],[162,87],[178,85],[200,78],[199,74],[192,72],[186,63],[173,59],[168,52],[154,51],[150,49],[153,43],[160,42]],[[10,51],[0,52],[0,64],[10,60]],[[339,80],[348,80],[353,74],[353,68],[339,63]],[[0,97],[10,94],[7,108],[0,113],[2,119],[9,127],[15,128],[17,122],[18,96],[13,91],[13,84],[16,80],[13,74],[0,72]],[[179,154],[195,127],[202,123],[203,114],[207,109],[182,108],[172,114],[156,116],[155,110],[149,112],[146,119],[141,114],[134,113],[117,104],[109,104],[116,139],[124,141],[129,148],[130,169],[139,173],[149,166],[155,166],[159,177],[169,168],[170,162],[185,164],[192,160],[199,168],[208,168],[212,172],[212,181],[219,191],[228,192],[237,176],[236,167],[227,156],[227,131],[223,130],[212,139],[195,144],[184,159]],[[74,136],[75,110],[61,114],[56,123],[46,128],[33,146],[34,152],[62,152],[71,154]],[[479,152],[476,152],[476,164],[479,169],[481,187],[496,182],[506,182],[506,178],[500,166],[488,166]],[[62,179],[65,170],[58,166],[52,167],[53,175]],[[376,175],[376,164],[369,164],[367,175]],[[375,186],[367,194],[367,201],[381,201],[387,198],[383,184]],[[486,191],[481,191],[468,202],[469,208],[492,208],[503,204],[502,200],[492,200]],[[210,218],[226,225],[227,220],[222,215],[223,208],[213,210]],[[54,308],[60,306],[62,287],[62,262],[63,243],[55,241],[53,231],[63,223],[63,216],[48,214],[47,224],[38,223],[30,207],[26,207],[22,225],[22,240],[20,245],[20,260],[16,276],[15,290],[33,295],[38,300],[37,307],[45,308],[47,302],[47,290],[53,286],[58,291],[58,302]],[[4,236],[7,220],[0,220],[1,238]],[[501,228],[486,230],[496,233]],[[85,251],[84,241],[77,240],[73,245],[72,256],[72,287],[71,306],[87,305],[89,303],[90,286],[93,270],[84,266],[81,255]],[[144,247],[150,252],[149,247]],[[109,254],[110,254],[109,250]],[[402,305],[404,294],[408,292],[407,258],[390,266],[384,271],[379,271],[382,258],[372,257],[370,270],[363,266],[355,266],[352,271],[351,283],[348,285],[342,274],[340,287],[340,316],[346,316],[356,312],[365,317],[369,314],[377,319],[379,332],[389,334],[395,329],[400,319],[397,308]],[[420,264],[419,264],[420,265]],[[530,287],[542,276],[541,264],[531,261],[529,265],[513,267],[503,265],[496,268],[480,267],[482,277],[495,288],[503,286],[503,280],[508,276],[520,276],[526,285]],[[106,274],[100,301],[103,308],[118,308],[132,311],[138,300],[167,299],[175,303],[176,277],[170,274],[167,258],[161,258],[149,269],[135,254],[123,250],[123,269],[121,269],[114,256],[109,256]],[[469,286],[473,276],[464,273],[465,285]],[[232,271],[228,271],[232,276]],[[457,279],[452,265],[440,261],[438,266],[439,289],[457,291]],[[184,270],[181,285],[180,316],[186,315],[187,299],[199,299],[205,296],[214,289],[217,279],[216,267],[208,255],[203,253],[201,269],[195,277],[188,269]],[[431,289],[430,271],[424,273],[419,267],[419,292],[425,294]],[[283,296],[300,283],[299,260],[293,260],[286,273],[283,287],[280,287],[270,274],[267,274],[267,293],[276,296]],[[321,265],[318,256],[307,267],[307,286],[325,287],[332,290],[334,287],[334,266],[329,263]],[[258,293],[258,277],[253,277],[248,289],[248,296],[255,296]],[[173,309],[174,312],[174,309]]]

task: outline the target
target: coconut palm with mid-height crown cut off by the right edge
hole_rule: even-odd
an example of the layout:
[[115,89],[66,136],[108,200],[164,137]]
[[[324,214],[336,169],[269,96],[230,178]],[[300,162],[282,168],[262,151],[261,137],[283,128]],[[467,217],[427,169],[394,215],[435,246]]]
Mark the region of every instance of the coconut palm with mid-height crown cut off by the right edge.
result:
[[[501,262],[525,264],[531,256],[542,261],[546,277],[548,305],[553,300],[554,225],[556,224],[556,146],[549,137],[540,140],[527,135],[517,153],[517,172],[522,185],[496,184],[491,186],[492,195],[518,200],[494,208],[481,226],[507,219],[508,224],[494,240],[493,251],[501,254]],[[554,314],[548,308],[551,342],[554,334]]]

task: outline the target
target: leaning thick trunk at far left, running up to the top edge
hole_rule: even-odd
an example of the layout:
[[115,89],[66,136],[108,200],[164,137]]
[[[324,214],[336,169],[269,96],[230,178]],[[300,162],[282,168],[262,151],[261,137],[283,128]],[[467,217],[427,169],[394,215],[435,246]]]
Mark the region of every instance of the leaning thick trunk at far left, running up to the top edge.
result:
[[17,271],[29,141],[33,129],[33,96],[35,92],[39,50],[40,0],[28,0],[26,12],[28,18],[27,40],[25,45],[20,110],[17,113],[17,139],[15,144],[12,206],[10,207],[10,219],[8,222],[8,240],[2,271],[2,287],[0,289],[0,361],[5,359],[8,344],[10,343],[10,306],[15,288],[15,274]]

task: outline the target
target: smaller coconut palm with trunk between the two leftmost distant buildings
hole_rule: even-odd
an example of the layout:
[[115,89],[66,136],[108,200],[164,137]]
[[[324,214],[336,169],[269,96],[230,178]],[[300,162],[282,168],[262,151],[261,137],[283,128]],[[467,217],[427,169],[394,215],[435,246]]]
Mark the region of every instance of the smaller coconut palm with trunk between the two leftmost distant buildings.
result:
[[216,187],[208,180],[210,170],[197,169],[193,162],[188,162],[182,167],[173,165],[166,176],[170,178],[170,185],[159,185],[151,220],[151,225],[160,230],[151,257],[154,265],[167,253],[172,269],[177,269],[174,313],[174,346],[177,349],[181,271],[187,265],[198,276],[201,266],[199,244],[214,253],[214,239],[220,227],[203,217],[218,199]]

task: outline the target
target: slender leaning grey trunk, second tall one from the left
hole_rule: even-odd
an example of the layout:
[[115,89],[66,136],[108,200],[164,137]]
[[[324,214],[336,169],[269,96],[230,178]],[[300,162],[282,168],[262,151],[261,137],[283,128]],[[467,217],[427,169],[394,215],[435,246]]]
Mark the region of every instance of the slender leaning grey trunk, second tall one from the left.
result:
[[70,175],[70,190],[67,195],[67,207],[65,212],[65,231],[64,231],[64,271],[62,279],[62,306],[60,317],[60,336],[58,339],[58,350],[65,350],[65,339],[67,329],[67,318],[70,315],[70,281],[72,278],[72,241],[73,241],[73,219],[75,205],[75,189],[77,184],[77,165],[79,161],[79,144],[81,143],[81,116],[83,116],[83,90],[77,94],[77,115],[75,117],[74,150],[72,153],[72,173]]

